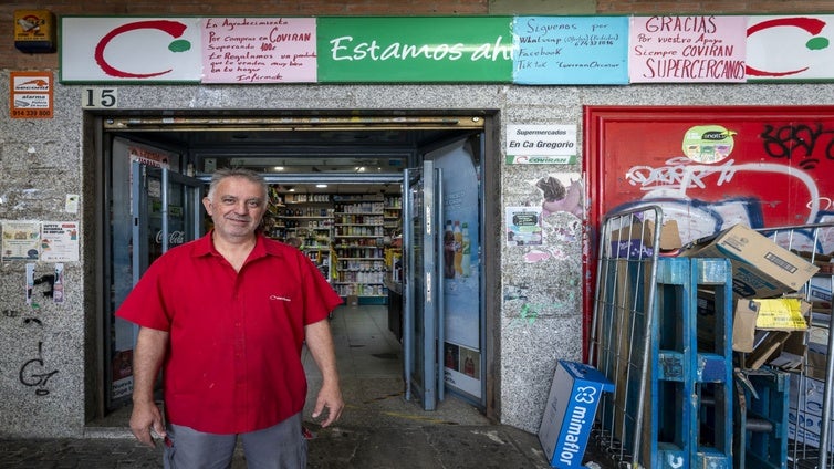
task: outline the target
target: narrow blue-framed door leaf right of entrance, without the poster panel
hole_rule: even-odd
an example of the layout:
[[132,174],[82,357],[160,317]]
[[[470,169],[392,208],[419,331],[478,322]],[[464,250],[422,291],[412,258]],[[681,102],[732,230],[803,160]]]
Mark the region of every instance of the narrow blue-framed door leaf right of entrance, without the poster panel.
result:
[[403,291],[405,311],[403,347],[405,350],[406,398],[416,395],[425,410],[435,410],[442,399],[439,376],[439,347],[444,343],[442,258],[439,220],[441,194],[439,169],[426,160],[421,168],[406,169],[403,191],[404,252],[407,274]]

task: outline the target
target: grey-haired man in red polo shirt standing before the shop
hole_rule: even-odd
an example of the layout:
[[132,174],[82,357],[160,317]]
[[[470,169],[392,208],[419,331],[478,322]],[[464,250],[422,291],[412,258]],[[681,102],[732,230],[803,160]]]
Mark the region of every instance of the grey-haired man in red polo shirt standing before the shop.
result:
[[166,468],[229,467],[238,437],[250,468],[305,467],[304,343],[323,378],[313,417],[326,409],[326,427],[344,408],[327,322],[342,299],[303,252],[258,232],[267,194],[257,173],[218,170],[202,200],[213,229],[152,263],[116,312],[140,326],[131,430],[165,438]]

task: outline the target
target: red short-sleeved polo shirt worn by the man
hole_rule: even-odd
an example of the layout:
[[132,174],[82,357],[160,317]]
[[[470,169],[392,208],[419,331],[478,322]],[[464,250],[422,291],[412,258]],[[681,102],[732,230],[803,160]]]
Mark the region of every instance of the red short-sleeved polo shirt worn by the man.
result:
[[116,315],[170,333],[169,421],[212,434],[268,428],[303,410],[304,325],[342,299],[295,248],[259,236],[236,272],[210,234],[154,261]]

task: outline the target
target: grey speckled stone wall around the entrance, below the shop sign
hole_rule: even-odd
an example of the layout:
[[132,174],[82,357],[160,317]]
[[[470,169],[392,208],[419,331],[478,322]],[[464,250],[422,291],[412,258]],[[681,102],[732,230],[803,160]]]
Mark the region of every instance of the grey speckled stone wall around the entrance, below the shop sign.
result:
[[[0,72],[8,90],[9,72]],[[92,394],[100,327],[93,305],[102,291],[95,275],[93,238],[102,216],[95,211],[95,150],[84,133],[83,86],[58,85],[52,119],[8,119],[0,131],[0,220],[73,220],[82,225],[81,261],[65,263],[65,302],[42,296],[27,305],[25,262],[0,264],[0,436],[81,436]],[[9,108],[8,93],[0,107]],[[510,86],[510,85],[361,85],[361,86],[118,86],[122,108],[217,110],[497,110],[503,160],[507,124],[576,124],[582,134],[583,105],[811,105],[834,104],[834,84],[814,85],[668,85],[668,86]],[[498,205],[541,204],[534,181],[543,174],[574,177],[582,168],[498,165]],[[64,211],[67,194],[82,195],[77,213]],[[501,226],[502,213],[491,213]],[[582,232],[580,219],[550,216],[549,237],[541,247],[553,256],[534,268],[524,261],[530,248],[508,248],[503,240],[497,269],[502,301],[496,327],[497,390],[500,419],[524,430],[538,430],[557,358],[581,359]],[[38,262],[35,277],[53,264]],[[525,289],[525,301],[512,292]],[[34,303],[37,302],[37,306]],[[527,305],[525,305],[527,304]],[[532,305],[532,308],[531,308]],[[86,385],[85,385],[86,383]]]

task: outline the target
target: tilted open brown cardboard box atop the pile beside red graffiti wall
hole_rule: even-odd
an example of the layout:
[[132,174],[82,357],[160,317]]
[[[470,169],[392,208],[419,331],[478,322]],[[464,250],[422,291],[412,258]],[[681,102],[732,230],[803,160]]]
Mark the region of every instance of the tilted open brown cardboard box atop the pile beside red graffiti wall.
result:
[[730,259],[732,290],[740,298],[773,298],[799,291],[820,270],[743,225],[696,242],[681,256]]

